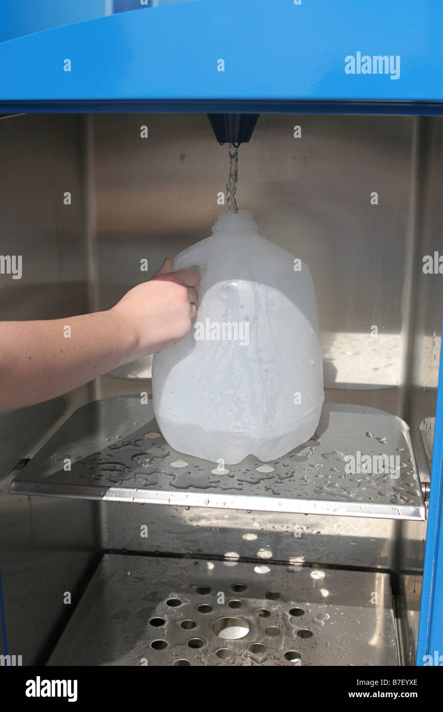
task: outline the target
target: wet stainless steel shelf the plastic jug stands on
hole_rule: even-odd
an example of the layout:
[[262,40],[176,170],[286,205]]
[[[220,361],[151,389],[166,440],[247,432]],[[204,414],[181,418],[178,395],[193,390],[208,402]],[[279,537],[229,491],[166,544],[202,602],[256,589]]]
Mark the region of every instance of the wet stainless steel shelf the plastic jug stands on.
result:
[[[410,431],[384,411],[325,404],[316,439],[278,461],[216,464],[172,450],[151,401],[119,396],[73,414],[11,483],[14,494],[354,517],[425,519]],[[346,473],[346,456],[400,458]],[[69,466],[71,469],[69,470]],[[66,468],[66,469],[65,469]]]

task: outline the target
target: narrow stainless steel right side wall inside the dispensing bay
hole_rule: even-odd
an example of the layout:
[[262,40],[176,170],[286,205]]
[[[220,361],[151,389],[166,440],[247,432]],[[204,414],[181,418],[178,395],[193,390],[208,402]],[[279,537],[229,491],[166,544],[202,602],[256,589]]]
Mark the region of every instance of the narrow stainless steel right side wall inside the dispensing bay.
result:
[[[410,389],[406,408],[420,478],[429,482],[442,347],[443,266],[442,273],[434,270],[425,273],[423,260],[426,256],[434,258],[434,253],[443,255],[443,120],[424,118],[421,121],[421,161],[417,171],[420,211],[417,215],[414,326],[410,343]],[[404,646],[410,664],[415,664],[425,538],[425,522],[402,523],[399,540],[400,600]]]

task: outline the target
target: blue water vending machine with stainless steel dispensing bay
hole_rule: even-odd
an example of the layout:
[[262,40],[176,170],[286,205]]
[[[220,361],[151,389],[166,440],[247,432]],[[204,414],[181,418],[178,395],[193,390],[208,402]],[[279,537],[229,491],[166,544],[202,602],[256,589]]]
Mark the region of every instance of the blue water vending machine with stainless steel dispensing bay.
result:
[[[441,2],[0,20],[1,664],[442,665]],[[58,382],[166,257],[248,345],[193,321],[31,397],[33,324]]]

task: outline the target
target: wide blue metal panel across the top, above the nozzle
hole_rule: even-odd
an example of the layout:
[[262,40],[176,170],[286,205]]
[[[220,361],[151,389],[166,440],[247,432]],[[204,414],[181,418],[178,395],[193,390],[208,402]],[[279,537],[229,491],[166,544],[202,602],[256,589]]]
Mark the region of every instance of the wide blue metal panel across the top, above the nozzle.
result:
[[442,30],[441,0],[184,2],[1,43],[0,98],[442,102]]

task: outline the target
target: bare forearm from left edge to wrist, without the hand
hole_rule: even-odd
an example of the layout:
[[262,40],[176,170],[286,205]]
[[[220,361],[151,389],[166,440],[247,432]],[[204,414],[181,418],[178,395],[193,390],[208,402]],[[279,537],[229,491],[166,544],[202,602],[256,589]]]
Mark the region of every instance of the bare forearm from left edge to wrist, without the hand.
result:
[[113,310],[0,323],[0,411],[66,393],[132,360],[137,335]]

